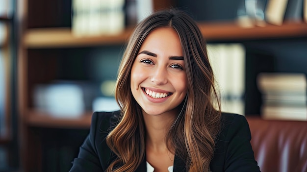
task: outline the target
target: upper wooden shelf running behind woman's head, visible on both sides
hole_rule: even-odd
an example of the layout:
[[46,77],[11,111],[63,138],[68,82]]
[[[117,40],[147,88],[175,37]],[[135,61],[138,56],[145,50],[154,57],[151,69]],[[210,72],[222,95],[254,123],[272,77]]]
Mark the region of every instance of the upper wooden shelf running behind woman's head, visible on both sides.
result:
[[[199,24],[207,41],[232,41],[251,39],[271,39],[307,36],[307,23],[269,25],[244,28],[234,23]],[[70,28],[28,29],[24,44],[27,48],[86,47],[95,45],[124,44],[133,28],[127,28],[118,35],[76,37]]]

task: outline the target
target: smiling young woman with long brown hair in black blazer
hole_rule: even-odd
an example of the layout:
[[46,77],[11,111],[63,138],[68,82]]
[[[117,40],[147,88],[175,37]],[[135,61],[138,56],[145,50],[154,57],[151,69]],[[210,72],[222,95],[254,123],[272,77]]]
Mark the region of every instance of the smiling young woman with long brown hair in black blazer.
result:
[[205,40],[184,12],[136,26],[115,98],[121,110],[93,114],[71,172],[259,172],[248,123],[221,112]]

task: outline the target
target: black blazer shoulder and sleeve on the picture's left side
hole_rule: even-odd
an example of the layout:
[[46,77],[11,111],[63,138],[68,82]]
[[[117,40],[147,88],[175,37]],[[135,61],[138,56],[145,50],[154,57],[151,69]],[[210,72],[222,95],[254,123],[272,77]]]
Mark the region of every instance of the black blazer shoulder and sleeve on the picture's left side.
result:
[[112,151],[106,137],[118,122],[120,111],[94,112],[90,133],[79,149],[71,172],[104,172],[110,162]]

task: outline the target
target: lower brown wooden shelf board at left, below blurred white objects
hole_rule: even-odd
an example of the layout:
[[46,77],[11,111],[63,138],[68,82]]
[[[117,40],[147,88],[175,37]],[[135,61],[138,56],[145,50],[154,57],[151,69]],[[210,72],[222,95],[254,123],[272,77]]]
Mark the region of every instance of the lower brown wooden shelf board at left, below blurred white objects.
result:
[[89,128],[91,125],[92,112],[86,112],[76,118],[57,118],[51,114],[40,112],[36,109],[29,110],[26,123],[29,126],[51,128]]

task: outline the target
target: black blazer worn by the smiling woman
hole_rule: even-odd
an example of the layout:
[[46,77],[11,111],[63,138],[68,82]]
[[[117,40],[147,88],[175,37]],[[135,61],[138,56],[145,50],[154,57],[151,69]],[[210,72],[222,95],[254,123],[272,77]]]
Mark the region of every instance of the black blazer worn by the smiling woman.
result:
[[[95,112],[88,137],[80,147],[70,172],[105,172],[114,153],[106,145],[105,138],[114,127],[119,111]],[[259,172],[250,144],[251,132],[244,116],[222,114],[221,133],[216,139],[214,156],[210,163],[212,172]],[[146,159],[136,172],[146,172]],[[174,172],[186,172],[185,161],[175,154]]]

